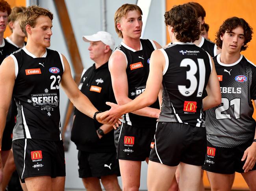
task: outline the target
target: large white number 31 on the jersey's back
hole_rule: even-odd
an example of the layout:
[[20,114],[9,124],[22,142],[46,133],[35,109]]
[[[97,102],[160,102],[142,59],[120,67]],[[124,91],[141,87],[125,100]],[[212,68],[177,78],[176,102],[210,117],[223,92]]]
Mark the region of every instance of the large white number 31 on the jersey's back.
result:
[[202,92],[204,90],[205,82],[205,65],[202,58],[198,58],[198,67],[199,67],[199,85],[197,89],[197,78],[195,74],[197,73],[197,64],[194,60],[190,58],[185,58],[180,62],[180,67],[188,67],[189,71],[186,73],[186,78],[190,82],[190,86],[186,88],[186,85],[178,85],[178,90],[183,96],[191,96],[197,89],[197,97],[202,97]]

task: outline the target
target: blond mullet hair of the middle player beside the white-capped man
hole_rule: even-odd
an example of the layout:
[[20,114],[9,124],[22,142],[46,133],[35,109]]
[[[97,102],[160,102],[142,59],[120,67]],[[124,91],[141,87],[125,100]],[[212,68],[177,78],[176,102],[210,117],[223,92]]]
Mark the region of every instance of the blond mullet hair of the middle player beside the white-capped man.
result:
[[119,7],[117,9],[117,11],[115,12],[115,16],[114,16],[114,21],[115,21],[115,31],[117,32],[117,35],[120,38],[123,38],[122,36],[122,31],[120,31],[117,28],[117,23],[121,22],[122,17],[126,18],[126,15],[129,11],[138,11],[141,15],[142,15],[142,11],[141,8],[138,5],[134,5],[134,4],[123,4],[121,7]]

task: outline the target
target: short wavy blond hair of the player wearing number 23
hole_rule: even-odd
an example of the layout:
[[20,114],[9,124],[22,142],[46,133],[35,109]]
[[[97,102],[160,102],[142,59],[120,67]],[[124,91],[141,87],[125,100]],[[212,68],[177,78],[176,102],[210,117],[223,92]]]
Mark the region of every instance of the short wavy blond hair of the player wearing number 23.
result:
[[19,16],[20,28],[26,36],[28,36],[26,25],[34,27],[39,16],[48,16],[51,20],[53,19],[53,14],[48,9],[37,5],[26,7],[26,10]]

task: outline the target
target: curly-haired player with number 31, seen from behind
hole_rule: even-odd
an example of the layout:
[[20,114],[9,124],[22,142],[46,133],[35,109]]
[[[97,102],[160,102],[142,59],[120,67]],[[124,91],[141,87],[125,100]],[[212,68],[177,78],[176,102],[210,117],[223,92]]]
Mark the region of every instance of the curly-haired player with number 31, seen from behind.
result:
[[[154,103],[163,84],[163,104],[154,148],[148,163],[148,190],[168,190],[180,164],[180,189],[198,191],[204,164],[206,130],[203,109],[221,102],[219,82],[211,56],[192,42],[200,30],[194,9],[178,5],[165,13],[172,45],[156,50],[150,57],[145,91],[102,117],[120,116]],[[202,92],[208,96],[202,100]]]

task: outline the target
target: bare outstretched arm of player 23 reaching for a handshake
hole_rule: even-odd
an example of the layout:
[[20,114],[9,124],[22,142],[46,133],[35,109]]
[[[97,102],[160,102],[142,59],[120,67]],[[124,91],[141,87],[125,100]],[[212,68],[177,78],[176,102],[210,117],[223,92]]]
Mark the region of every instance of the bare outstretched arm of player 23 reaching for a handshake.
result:
[[[81,91],[78,89],[76,83],[74,82],[71,76],[68,61],[65,58],[65,56],[62,55],[62,57],[63,57],[65,71],[62,75],[61,86],[63,87],[65,93],[67,94],[70,101],[74,104],[74,106],[85,115],[93,118],[94,113],[98,110],[93,106],[93,104],[90,102],[87,96],[81,93]],[[97,117],[97,120],[99,120],[98,117]],[[112,119],[109,122],[106,122],[106,121],[104,122],[99,121],[99,122],[112,124],[113,121],[116,122],[117,120]]]

